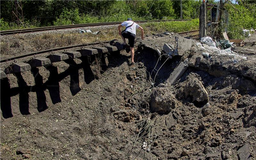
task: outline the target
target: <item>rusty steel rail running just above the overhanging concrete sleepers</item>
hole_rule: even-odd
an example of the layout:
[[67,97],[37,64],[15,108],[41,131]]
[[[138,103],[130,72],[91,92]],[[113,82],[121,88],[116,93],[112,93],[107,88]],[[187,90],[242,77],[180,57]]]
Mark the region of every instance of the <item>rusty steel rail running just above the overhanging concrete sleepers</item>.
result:
[[17,58],[23,58],[23,57],[43,54],[43,53],[47,53],[47,52],[52,52],[52,51],[56,51],[56,50],[64,50],[64,49],[69,49],[69,48],[74,48],[74,47],[83,47],[83,46],[90,46],[90,45],[94,45],[94,44],[109,43],[109,42],[111,42],[111,41],[76,44],[76,45],[71,45],[71,46],[52,48],[52,49],[48,49],[48,50],[40,50],[40,51],[36,51],[36,52],[30,52],[30,53],[27,53],[27,54],[22,54],[22,55],[19,55],[19,56],[2,58],[0,60],[0,63],[6,62],[6,61],[10,61],[10,60],[14,60],[14,59],[17,59]]

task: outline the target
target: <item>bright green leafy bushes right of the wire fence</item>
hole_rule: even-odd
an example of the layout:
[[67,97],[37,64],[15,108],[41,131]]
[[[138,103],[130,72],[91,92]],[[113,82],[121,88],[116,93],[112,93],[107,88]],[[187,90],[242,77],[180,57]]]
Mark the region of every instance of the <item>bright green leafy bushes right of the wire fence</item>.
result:
[[228,37],[244,38],[243,29],[256,29],[256,4],[226,4],[229,14]]

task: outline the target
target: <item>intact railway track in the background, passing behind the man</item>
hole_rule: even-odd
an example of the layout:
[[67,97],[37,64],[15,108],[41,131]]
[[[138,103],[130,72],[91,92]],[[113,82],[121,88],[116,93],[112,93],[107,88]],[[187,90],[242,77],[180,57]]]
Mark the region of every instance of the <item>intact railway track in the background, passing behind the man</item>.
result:
[[[161,20],[135,20],[134,22],[164,22],[164,21],[187,21],[191,19],[161,19]],[[115,25],[122,22],[101,22],[101,23],[87,23],[87,24],[76,24],[76,25],[64,25],[64,26],[51,26],[51,27],[39,27],[39,28],[28,28],[28,29],[17,29],[17,30],[7,30],[0,31],[1,35],[5,34],[20,34],[20,33],[30,33],[39,32],[47,30],[65,29],[65,28],[77,28],[77,27],[88,27],[88,26],[102,26],[102,25]]]

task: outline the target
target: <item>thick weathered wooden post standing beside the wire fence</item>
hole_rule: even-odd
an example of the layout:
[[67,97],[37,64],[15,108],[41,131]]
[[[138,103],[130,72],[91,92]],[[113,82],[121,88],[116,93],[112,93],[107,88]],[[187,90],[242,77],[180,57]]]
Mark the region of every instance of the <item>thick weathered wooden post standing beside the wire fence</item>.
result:
[[203,0],[199,13],[199,39],[206,35],[206,4]]

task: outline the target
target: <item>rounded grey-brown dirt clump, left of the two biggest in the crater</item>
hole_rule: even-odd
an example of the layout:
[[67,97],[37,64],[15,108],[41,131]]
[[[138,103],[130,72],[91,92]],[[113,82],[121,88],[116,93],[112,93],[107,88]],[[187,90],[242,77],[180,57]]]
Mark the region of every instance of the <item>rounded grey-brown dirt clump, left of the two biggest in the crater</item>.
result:
[[175,95],[167,87],[156,88],[151,94],[150,111],[159,114],[168,114],[171,109],[179,106]]

